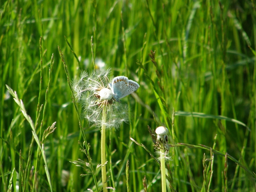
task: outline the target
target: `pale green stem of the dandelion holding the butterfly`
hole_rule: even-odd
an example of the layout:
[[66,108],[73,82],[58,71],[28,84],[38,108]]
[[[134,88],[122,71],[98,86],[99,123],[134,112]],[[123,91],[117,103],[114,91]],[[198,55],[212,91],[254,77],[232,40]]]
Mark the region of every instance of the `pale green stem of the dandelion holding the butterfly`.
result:
[[106,174],[106,119],[107,119],[107,107],[102,108],[102,125],[101,125],[101,175],[102,175],[102,187],[103,192],[108,192],[107,189],[107,174]]

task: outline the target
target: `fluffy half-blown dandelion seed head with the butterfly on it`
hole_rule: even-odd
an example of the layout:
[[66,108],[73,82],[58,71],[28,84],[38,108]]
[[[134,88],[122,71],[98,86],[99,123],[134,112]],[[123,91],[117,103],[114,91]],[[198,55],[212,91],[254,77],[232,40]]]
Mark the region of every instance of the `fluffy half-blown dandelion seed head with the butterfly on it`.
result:
[[108,89],[110,69],[88,74],[82,72],[79,79],[73,81],[73,89],[77,100],[84,107],[84,118],[96,127],[102,125],[102,107],[107,108],[106,128],[118,128],[128,122],[128,107],[115,102],[113,93]]

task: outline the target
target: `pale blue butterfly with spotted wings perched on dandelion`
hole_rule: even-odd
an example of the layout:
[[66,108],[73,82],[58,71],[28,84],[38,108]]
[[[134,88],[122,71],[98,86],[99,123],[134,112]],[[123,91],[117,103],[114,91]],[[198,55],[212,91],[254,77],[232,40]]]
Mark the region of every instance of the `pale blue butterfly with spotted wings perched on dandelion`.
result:
[[140,85],[132,80],[129,80],[126,76],[117,76],[112,80],[112,83],[108,84],[113,93],[113,98],[116,101],[135,92]]

